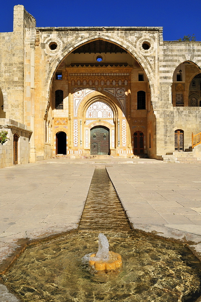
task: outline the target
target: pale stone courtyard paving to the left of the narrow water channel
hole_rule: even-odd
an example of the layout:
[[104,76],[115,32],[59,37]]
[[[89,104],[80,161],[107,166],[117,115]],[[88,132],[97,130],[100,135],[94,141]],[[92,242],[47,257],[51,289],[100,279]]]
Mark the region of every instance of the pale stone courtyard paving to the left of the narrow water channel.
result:
[[0,263],[22,239],[42,239],[76,229],[94,169],[55,163],[1,169]]

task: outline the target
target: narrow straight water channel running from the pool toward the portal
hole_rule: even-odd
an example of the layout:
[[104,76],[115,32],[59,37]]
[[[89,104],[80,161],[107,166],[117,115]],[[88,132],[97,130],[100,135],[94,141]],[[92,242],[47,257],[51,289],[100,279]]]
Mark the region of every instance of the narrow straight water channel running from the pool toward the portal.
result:
[[129,232],[131,227],[105,169],[95,169],[79,230]]

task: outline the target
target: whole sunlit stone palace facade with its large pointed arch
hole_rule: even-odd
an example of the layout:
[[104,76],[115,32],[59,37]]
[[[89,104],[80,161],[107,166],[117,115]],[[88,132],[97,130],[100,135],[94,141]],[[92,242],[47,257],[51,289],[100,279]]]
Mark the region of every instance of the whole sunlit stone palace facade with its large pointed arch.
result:
[[192,151],[192,132],[201,131],[201,42],[162,34],[36,27],[16,5],[13,32],[0,33],[0,130],[9,136],[0,166]]

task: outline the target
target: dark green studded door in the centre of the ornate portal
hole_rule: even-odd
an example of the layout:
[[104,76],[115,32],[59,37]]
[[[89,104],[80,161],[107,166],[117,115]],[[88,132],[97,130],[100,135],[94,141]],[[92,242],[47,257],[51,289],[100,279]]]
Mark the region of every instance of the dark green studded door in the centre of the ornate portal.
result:
[[90,130],[91,155],[109,155],[109,128],[95,126]]

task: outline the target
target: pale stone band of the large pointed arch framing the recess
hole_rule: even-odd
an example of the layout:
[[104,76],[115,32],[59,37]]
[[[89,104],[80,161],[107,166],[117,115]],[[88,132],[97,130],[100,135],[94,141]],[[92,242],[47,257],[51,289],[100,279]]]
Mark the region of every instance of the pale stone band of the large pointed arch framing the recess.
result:
[[116,35],[112,35],[112,37],[104,35],[104,34],[93,34],[90,37],[86,38],[79,38],[79,39],[72,39],[68,42],[68,44],[61,50],[59,55],[55,56],[55,58],[51,61],[49,70],[47,71],[47,78],[45,82],[45,86],[47,87],[46,90],[46,114],[47,114],[47,109],[49,106],[49,94],[50,94],[50,85],[53,79],[53,74],[55,70],[57,69],[58,65],[63,61],[63,59],[69,55],[74,49],[78,48],[81,45],[84,45],[86,43],[92,42],[94,40],[105,40],[111,43],[114,43],[118,45],[119,47],[122,47],[125,49],[132,57],[134,57],[138,63],[142,66],[144,69],[144,72],[146,73],[146,76],[148,78],[149,86],[150,86],[150,92],[151,92],[151,98],[157,98],[157,87],[155,87],[154,82],[154,74],[151,70],[151,66],[148,64],[148,61],[144,59],[143,54],[141,54],[136,47],[134,46],[131,41],[129,41],[126,38],[121,38]]

